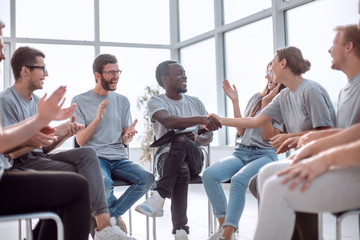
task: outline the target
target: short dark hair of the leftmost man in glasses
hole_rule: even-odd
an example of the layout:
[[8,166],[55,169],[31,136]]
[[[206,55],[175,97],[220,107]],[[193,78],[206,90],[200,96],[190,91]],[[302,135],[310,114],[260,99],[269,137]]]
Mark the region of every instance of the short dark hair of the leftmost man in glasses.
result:
[[[37,63],[36,58],[45,58],[45,54],[40,50],[32,47],[19,47],[11,57],[11,68],[14,73],[15,81],[20,78],[22,67],[31,66]],[[32,71],[32,69],[30,69]]]

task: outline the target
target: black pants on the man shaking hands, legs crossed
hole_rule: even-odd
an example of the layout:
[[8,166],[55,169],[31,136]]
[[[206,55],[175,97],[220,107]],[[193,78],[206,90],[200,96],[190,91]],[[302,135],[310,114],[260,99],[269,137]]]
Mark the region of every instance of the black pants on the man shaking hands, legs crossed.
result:
[[199,175],[203,164],[204,155],[199,146],[182,135],[176,137],[171,142],[170,151],[158,159],[160,178],[154,190],[163,198],[171,198],[173,233],[178,229],[189,233],[189,227],[186,226],[189,180],[191,176]]

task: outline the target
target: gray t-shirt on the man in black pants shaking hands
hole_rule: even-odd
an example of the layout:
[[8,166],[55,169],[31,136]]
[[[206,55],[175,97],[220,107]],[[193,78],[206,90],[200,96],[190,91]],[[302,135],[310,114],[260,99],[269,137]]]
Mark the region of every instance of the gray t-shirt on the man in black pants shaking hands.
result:
[[[206,116],[208,112],[205,109],[204,104],[197,98],[193,96],[189,96],[186,94],[181,95],[182,98],[180,100],[173,100],[168,98],[165,94],[160,94],[158,96],[152,97],[147,106],[148,106],[148,114],[150,116],[151,121],[153,122],[153,128],[156,138],[160,138],[162,135],[167,133],[172,129],[166,129],[161,123],[155,121],[153,116],[156,112],[160,110],[166,110],[170,115],[181,116],[181,117],[192,117],[192,116]],[[197,126],[201,128],[201,125]],[[162,148],[160,154],[169,151],[169,146],[165,146]]]

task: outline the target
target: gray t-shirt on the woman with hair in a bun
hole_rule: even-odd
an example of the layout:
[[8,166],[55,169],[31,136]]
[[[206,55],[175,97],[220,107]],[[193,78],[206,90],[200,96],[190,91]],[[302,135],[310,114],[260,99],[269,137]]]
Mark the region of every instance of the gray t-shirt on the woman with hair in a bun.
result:
[[284,123],[288,133],[334,127],[336,122],[329,94],[319,83],[307,79],[294,91],[283,89],[261,113]]

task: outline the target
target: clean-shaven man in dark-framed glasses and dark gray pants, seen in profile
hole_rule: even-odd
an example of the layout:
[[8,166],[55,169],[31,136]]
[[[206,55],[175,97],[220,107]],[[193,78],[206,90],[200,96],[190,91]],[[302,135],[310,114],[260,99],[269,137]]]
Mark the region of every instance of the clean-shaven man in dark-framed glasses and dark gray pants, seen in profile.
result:
[[[14,52],[11,67],[15,83],[0,94],[3,126],[16,124],[37,113],[40,98],[33,92],[43,88],[44,80],[48,76],[44,58],[45,55],[41,51],[31,47],[20,47]],[[97,223],[95,240],[133,239],[126,236],[117,226],[110,224],[101,171],[95,151],[91,148],[81,148],[48,154],[83,128],[84,126],[77,124],[73,117],[70,121],[55,128],[48,128],[46,132],[38,132],[18,150],[9,154],[13,167],[79,173],[89,184],[91,211]],[[57,140],[49,141],[48,135],[55,136]]]

